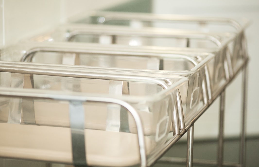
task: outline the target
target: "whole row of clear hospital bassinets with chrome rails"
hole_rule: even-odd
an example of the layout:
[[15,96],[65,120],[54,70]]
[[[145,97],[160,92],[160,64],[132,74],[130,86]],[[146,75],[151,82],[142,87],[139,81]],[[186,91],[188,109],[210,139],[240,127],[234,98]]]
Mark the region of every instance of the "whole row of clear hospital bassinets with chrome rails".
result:
[[245,19],[87,21],[1,49],[1,157],[147,166],[248,60]]

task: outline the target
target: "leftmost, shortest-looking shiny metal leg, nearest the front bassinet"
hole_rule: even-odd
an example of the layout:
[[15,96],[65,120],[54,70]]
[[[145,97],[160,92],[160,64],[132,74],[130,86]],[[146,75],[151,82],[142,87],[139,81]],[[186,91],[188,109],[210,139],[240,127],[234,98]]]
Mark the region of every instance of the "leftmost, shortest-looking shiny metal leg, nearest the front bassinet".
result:
[[193,160],[193,125],[188,130],[187,135],[187,167],[192,167],[192,160]]

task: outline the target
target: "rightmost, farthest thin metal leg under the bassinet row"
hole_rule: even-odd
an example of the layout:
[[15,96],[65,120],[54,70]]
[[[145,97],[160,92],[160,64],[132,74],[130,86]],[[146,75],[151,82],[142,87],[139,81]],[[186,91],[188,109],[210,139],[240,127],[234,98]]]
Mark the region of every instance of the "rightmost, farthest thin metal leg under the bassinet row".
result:
[[243,69],[243,88],[242,88],[242,128],[240,137],[240,159],[239,163],[244,167],[246,159],[246,114],[247,114],[247,77],[248,67]]

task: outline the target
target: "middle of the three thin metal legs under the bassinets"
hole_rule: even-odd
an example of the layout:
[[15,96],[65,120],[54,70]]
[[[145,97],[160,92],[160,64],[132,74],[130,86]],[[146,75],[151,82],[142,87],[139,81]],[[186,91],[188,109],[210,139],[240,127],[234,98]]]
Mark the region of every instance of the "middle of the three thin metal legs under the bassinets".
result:
[[223,164],[224,151],[224,114],[225,114],[225,90],[220,94],[219,138],[218,138],[218,166]]

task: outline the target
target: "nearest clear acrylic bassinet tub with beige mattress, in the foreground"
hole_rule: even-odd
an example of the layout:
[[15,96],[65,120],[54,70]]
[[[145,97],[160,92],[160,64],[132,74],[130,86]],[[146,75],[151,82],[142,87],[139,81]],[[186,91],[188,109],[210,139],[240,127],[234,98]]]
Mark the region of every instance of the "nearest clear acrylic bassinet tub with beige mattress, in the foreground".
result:
[[187,89],[184,77],[10,61],[0,76],[0,156],[77,165],[145,165]]

